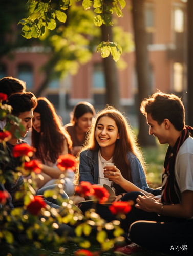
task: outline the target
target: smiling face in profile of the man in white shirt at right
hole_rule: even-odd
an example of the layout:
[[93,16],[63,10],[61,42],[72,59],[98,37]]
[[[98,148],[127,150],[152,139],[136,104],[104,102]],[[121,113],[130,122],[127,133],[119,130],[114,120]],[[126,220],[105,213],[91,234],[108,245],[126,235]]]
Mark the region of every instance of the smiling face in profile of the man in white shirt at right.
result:
[[152,119],[151,114],[147,114],[147,124],[149,125],[149,135],[156,136],[160,144],[168,143],[164,121],[159,125]]

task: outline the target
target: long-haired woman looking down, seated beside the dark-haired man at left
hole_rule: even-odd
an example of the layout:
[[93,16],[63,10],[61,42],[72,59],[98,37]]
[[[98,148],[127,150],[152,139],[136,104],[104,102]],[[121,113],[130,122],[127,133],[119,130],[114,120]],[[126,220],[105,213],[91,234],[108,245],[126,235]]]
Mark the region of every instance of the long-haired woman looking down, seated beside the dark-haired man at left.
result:
[[[37,188],[55,184],[55,180],[62,174],[57,168],[59,155],[71,154],[72,141],[68,132],[62,127],[54,106],[46,98],[38,98],[38,105],[34,109],[32,119],[32,146],[36,148],[35,158],[43,164],[42,174],[48,179],[36,180]],[[70,173],[69,185],[67,180],[65,191],[69,196],[74,193]],[[66,173],[67,178],[67,173]]]

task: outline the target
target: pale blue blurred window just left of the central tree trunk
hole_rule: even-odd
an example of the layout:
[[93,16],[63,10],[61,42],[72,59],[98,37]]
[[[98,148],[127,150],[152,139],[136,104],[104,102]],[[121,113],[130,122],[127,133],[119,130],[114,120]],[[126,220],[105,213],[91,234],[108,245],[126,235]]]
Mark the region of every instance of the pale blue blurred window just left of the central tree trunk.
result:
[[93,67],[93,86],[94,88],[105,88],[104,70],[101,63],[97,63]]

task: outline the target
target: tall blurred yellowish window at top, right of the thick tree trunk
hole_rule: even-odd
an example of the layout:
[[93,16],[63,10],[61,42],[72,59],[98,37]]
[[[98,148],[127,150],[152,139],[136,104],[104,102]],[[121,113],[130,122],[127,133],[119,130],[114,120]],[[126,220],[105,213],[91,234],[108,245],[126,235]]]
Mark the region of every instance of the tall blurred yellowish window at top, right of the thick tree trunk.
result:
[[147,32],[147,44],[151,45],[154,42],[154,4],[146,3],[145,4],[145,27]]

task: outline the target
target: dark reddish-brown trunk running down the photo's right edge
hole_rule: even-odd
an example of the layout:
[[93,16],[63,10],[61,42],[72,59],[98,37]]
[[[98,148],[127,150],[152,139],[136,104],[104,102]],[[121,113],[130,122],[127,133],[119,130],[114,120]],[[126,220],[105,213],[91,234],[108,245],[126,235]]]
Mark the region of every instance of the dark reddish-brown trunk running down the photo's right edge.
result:
[[187,2],[187,124],[193,127],[193,1]]

